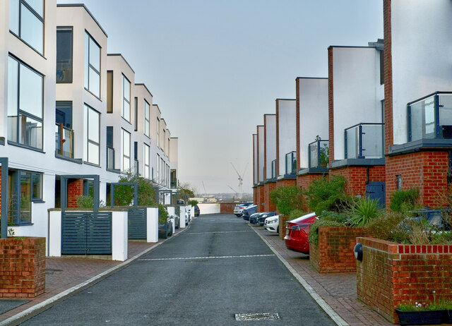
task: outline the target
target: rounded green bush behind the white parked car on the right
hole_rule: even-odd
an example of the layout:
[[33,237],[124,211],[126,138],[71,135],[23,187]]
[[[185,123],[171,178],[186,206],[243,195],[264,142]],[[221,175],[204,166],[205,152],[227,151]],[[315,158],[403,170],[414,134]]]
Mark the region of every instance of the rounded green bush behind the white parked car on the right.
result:
[[303,191],[298,186],[278,186],[270,191],[270,200],[283,215],[290,215],[292,210],[302,210]]

